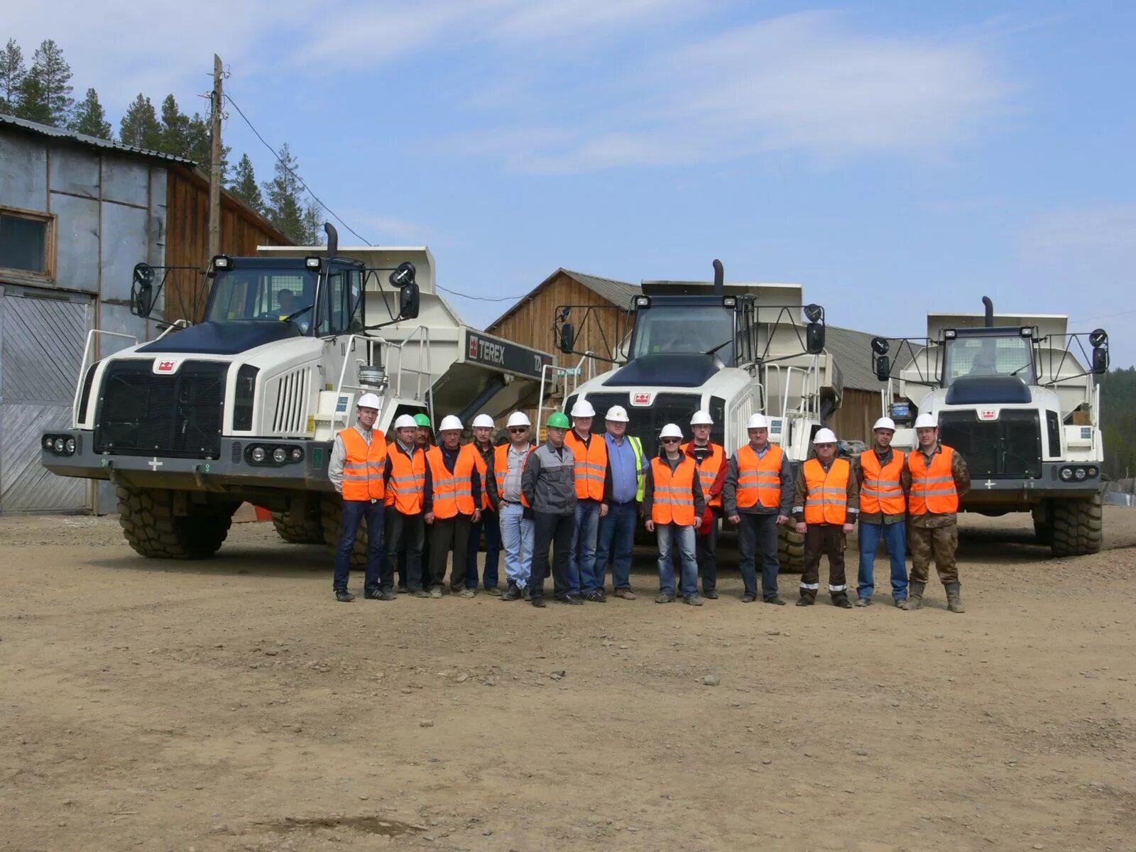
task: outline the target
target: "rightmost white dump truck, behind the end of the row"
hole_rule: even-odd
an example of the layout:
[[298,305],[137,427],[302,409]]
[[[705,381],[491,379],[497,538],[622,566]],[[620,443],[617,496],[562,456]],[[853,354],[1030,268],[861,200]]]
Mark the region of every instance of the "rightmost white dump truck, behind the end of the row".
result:
[[1054,557],[1096,553],[1102,541],[1101,400],[1109,368],[1103,328],[1068,332],[1068,317],[929,314],[926,337],[872,340],[893,445],[916,446],[916,414],[934,415],[939,438],[962,453],[970,493],[961,509],[1029,511]]

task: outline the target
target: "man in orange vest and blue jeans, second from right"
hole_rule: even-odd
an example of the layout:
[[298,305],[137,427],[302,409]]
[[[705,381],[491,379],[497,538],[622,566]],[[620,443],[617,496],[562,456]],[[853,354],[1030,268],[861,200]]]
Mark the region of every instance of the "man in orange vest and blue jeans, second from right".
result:
[[871,427],[875,444],[852,462],[860,486],[860,570],[857,575],[857,607],[870,607],[875,591],[876,550],[880,540],[892,560],[892,599],[908,608],[908,486],[911,474],[907,457],[892,449],[895,421],[880,417]]

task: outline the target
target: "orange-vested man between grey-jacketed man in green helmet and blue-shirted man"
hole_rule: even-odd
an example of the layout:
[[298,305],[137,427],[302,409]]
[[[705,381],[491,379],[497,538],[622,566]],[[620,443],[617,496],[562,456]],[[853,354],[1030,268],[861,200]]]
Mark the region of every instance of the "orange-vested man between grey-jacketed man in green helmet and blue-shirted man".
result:
[[571,537],[570,576],[576,587],[569,591],[583,598],[584,580],[595,569],[595,544],[600,534],[600,518],[608,513],[611,495],[611,469],[608,465],[608,444],[602,435],[592,434],[595,409],[587,400],[577,400],[571,407],[571,429],[565,437],[576,465],[576,529]]

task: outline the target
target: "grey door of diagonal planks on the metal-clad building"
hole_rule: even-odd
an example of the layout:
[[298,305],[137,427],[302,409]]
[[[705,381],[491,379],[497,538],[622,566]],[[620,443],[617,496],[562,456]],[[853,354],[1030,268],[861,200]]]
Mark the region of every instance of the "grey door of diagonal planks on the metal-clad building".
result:
[[90,509],[86,479],[40,465],[44,429],[72,425],[91,303],[0,287],[0,512]]

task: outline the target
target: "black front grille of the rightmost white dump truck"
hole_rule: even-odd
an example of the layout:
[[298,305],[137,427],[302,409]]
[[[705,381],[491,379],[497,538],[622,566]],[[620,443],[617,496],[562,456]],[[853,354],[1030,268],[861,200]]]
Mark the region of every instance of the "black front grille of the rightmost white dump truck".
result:
[[943,411],[939,438],[962,453],[970,477],[1037,478],[1042,475],[1042,429],[1037,411],[1003,409],[996,420],[977,411]]

